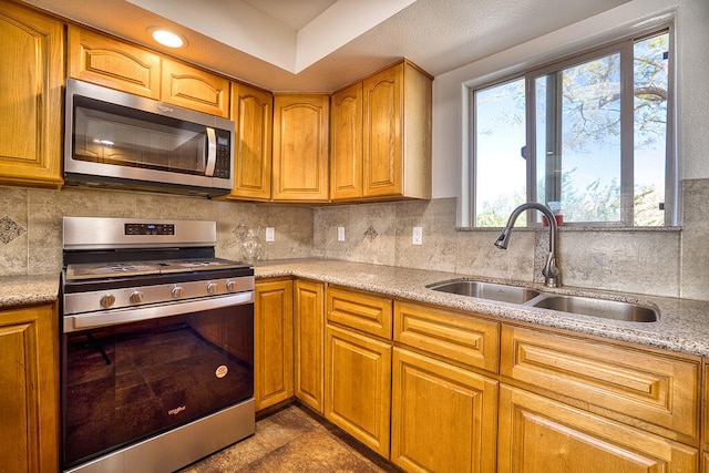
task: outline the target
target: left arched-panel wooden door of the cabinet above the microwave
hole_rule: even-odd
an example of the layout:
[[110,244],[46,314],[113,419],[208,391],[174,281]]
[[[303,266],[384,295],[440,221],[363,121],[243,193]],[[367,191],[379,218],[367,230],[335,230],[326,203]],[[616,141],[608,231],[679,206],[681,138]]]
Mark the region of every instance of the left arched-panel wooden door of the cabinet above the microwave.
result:
[[160,100],[160,55],[74,25],[68,69],[70,78]]

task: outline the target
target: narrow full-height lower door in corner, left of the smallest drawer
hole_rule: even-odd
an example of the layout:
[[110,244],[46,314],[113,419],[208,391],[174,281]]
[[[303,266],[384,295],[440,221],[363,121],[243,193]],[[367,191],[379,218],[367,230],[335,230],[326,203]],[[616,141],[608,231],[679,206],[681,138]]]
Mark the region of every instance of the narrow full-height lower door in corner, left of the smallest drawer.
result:
[[325,287],[297,280],[295,291],[295,393],[323,413]]

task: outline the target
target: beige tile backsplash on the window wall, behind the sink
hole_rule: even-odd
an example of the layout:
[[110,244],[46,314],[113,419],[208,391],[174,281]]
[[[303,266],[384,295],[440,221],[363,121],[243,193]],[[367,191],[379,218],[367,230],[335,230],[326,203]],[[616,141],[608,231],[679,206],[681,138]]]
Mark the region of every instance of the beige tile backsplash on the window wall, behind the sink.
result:
[[[685,225],[667,229],[563,227],[558,264],[564,286],[709,300],[709,179],[682,183]],[[514,229],[507,250],[500,229],[455,229],[456,199],[361,204],[315,209],[314,255],[322,258],[543,282],[548,230]],[[337,240],[337,227],[346,240]],[[411,243],[423,228],[423,245]]]

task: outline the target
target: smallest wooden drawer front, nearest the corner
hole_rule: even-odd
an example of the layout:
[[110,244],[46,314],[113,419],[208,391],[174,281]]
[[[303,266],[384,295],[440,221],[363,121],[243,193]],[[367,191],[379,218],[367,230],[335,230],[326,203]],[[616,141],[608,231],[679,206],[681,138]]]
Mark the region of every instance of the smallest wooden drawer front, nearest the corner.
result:
[[391,299],[346,289],[328,288],[328,322],[336,322],[391,340]]

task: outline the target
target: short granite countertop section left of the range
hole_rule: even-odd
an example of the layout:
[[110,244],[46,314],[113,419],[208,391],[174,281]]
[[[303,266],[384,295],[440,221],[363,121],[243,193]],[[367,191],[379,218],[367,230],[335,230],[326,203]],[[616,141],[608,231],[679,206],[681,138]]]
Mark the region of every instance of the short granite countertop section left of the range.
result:
[[0,276],[0,310],[53,304],[59,296],[59,275]]

